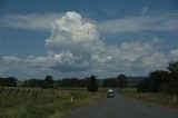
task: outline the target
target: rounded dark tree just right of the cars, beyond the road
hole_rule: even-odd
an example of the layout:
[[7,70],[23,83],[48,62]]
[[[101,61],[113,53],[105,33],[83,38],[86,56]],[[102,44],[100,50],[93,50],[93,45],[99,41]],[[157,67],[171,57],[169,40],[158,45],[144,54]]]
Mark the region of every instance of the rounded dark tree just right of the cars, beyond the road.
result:
[[119,75],[119,76],[117,77],[117,80],[118,80],[118,87],[119,87],[120,89],[122,89],[122,88],[126,87],[126,85],[127,85],[127,79],[126,79],[126,76],[125,76],[125,75]]

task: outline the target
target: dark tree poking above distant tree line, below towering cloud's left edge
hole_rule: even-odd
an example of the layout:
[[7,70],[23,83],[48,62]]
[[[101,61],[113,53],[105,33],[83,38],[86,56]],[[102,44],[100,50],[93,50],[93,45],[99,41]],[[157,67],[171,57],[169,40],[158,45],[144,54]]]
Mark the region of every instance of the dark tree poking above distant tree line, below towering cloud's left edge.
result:
[[44,80],[42,81],[43,88],[53,88],[53,78],[52,76],[47,76]]

